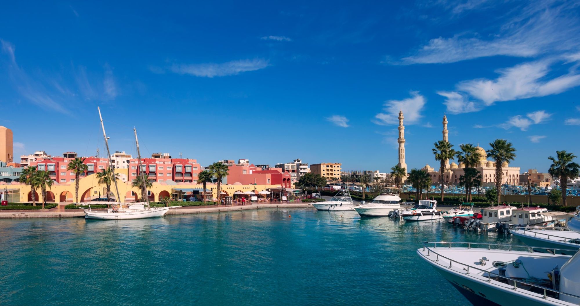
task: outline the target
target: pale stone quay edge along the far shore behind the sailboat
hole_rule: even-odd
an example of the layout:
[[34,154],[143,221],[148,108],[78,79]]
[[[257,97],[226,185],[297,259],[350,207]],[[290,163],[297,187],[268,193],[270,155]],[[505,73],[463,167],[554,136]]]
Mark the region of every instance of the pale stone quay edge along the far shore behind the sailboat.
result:
[[[234,205],[211,205],[211,206],[187,206],[173,208],[169,210],[168,215],[179,214],[203,214],[203,213],[219,213],[224,211],[240,211],[240,210],[257,210],[259,208],[306,208],[310,207],[311,203],[302,203],[295,201],[291,203],[253,203],[253,204],[234,204]],[[64,209],[64,204],[60,204],[55,208],[50,208],[44,211],[31,210],[10,210],[0,211],[0,219],[6,218],[73,218],[84,217],[85,212],[81,209]]]

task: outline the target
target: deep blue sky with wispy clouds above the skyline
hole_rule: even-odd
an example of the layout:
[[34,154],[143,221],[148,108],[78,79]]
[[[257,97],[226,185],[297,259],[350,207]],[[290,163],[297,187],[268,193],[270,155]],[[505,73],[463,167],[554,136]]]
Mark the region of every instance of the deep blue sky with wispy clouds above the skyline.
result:
[[[572,1],[9,2],[0,125],[15,154],[167,152],[202,165],[342,162],[387,171],[405,112],[409,168],[449,141],[513,142],[546,171],[580,154]],[[104,153],[102,153],[104,155]]]

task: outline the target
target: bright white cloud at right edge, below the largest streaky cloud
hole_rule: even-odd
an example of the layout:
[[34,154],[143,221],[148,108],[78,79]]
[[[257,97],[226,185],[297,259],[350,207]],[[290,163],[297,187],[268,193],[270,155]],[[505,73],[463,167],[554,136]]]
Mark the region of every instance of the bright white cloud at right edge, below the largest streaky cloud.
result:
[[541,60],[500,69],[496,71],[500,76],[495,80],[481,78],[463,81],[456,88],[489,106],[497,101],[554,95],[580,85],[580,74],[575,69],[546,80],[552,72],[550,62]]

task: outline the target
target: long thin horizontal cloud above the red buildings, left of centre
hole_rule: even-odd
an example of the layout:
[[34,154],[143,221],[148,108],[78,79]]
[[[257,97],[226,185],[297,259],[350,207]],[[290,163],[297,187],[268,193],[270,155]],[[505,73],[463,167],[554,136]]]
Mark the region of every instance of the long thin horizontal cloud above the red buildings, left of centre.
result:
[[171,71],[179,74],[191,74],[196,77],[213,78],[260,70],[268,66],[270,66],[270,63],[264,59],[245,59],[233,60],[227,63],[174,64],[171,66]]

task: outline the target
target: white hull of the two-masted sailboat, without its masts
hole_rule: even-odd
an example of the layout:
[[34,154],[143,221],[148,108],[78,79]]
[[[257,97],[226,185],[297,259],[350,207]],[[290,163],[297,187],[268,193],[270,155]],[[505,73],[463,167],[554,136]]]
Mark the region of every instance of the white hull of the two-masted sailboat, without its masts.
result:
[[144,219],[161,217],[168,213],[170,208],[177,208],[179,206],[171,207],[150,207],[148,203],[133,203],[127,207],[123,207],[122,203],[111,203],[112,208],[106,210],[92,210],[90,208],[82,208],[85,211],[85,219]]

